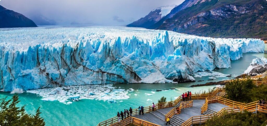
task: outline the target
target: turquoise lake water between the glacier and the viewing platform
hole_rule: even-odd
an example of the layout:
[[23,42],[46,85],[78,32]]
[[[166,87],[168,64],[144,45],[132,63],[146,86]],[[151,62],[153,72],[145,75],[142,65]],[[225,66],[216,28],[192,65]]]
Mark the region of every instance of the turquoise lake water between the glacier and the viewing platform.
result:
[[[239,60],[232,61],[230,68],[218,69],[217,72],[223,74],[232,74],[233,76],[238,76],[242,74],[252,59],[257,57],[266,57],[267,54],[264,53],[251,53],[243,54],[243,57]],[[40,96],[30,93],[19,94],[19,99],[21,102],[20,106],[26,105],[26,111],[29,113],[35,113],[36,109],[41,107],[41,116],[44,118],[46,125],[97,125],[99,122],[116,116],[117,111],[122,111],[123,109],[129,109],[129,107],[137,108],[138,106],[148,106],[152,102],[157,103],[157,100],[165,96],[167,100],[170,98],[179,96],[182,92],[187,90],[191,92],[196,92],[199,90],[207,90],[208,88],[213,88],[214,86],[203,86],[203,87],[190,87],[193,84],[203,84],[207,82],[220,81],[224,79],[231,79],[233,77],[217,78],[214,80],[207,81],[209,76],[196,78],[196,80],[204,80],[203,82],[192,82],[183,84],[114,84],[113,86],[122,89],[133,88],[135,92],[129,94],[130,98],[127,100],[122,100],[118,103],[108,103],[101,100],[87,100],[83,99],[80,101],[73,102],[72,104],[66,105],[58,101],[42,101]],[[168,90],[170,88],[176,88],[176,90]],[[167,90],[156,92],[155,90]],[[155,94],[152,96],[146,96],[144,93]],[[138,94],[135,96],[134,94]],[[8,92],[0,92],[0,98],[11,97],[13,94]],[[147,101],[151,99],[152,101]],[[117,100],[120,101],[120,100]]]

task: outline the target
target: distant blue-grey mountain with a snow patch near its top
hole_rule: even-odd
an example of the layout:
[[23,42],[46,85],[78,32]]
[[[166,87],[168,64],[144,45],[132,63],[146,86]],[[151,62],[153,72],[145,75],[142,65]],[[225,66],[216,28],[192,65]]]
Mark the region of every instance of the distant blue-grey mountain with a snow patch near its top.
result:
[[150,28],[152,25],[157,23],[160,19],[165,17],[170,11],[175,7],[175,5],[163,6],[152,10],[148,15],[143,18],[140,18],[138,21],[135,21],[127,27],[143,27]]

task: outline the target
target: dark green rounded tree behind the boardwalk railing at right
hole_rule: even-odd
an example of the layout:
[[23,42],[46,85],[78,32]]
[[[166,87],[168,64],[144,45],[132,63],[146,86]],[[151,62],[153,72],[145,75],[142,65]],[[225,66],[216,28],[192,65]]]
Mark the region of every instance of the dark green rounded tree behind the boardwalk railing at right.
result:
[[249,96],[252,88],[256,87],[252,80],[247,78],[246,80],[233,80],[225,84],[225,92],[227,99],[239,102],[252,102],[252,97]]

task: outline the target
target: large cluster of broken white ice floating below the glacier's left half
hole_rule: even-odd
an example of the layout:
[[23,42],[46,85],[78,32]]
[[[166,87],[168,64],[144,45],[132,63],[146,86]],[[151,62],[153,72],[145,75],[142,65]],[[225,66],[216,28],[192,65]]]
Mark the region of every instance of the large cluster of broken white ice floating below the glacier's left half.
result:
[[[130,98],[128,92],[124,89],[115,89],[111,84],[103,85],[84,85],[84,86],[64,86],[56,88],[42,88],[36,90],[28,90],[28,93],[38,94],[42,100],[54,101],[58,100],[64,104],[70,104],[70,101],[78,101],[81,99],[104,100],[115,103],[115,100],[123,100]],[[117,91],[120,92],[117,92]],[[83,92],[83,93],[81,93]],[[115,92],[115,93],[114,93]],[[108,94],[107,94],[108,93]],[[112,100],[113,101],[112,101]]]

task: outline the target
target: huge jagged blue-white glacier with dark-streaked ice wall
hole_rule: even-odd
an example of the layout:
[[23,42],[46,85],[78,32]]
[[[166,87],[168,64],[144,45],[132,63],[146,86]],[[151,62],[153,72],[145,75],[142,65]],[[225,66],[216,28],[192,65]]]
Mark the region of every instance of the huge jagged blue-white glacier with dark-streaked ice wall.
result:
[[0,30],[0,90],[70,85],[194,81],[230,67],[259,39],[215,39],[127,27]]

